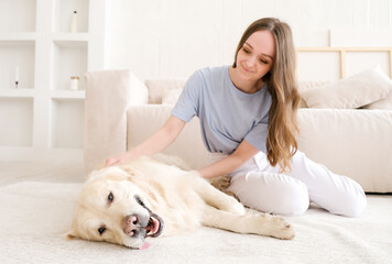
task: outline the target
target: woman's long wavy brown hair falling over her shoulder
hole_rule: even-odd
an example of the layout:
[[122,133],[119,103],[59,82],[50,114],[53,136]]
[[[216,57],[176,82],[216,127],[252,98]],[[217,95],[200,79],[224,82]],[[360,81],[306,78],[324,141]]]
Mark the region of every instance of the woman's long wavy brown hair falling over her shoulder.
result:
[[297,151],[298,132],[296,110],[300,94],[296,82],[296,56],[293,34],[288,24],[277,19],[264,18],[248,26],[237,46],[237,54],[248,37],[257,31],[270,31],[275,40],[275,58],[270,73],[262,80],[268,84],[272,97],[266,135],[266,156],[272,166],[280,165],[282,172],[291,168],[290,161]]

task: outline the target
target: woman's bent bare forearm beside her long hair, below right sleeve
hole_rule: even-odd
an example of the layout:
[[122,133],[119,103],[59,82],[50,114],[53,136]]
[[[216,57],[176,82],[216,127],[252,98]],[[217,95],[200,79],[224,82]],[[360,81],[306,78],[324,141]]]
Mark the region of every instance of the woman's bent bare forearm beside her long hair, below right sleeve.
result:
[[198,173],[204,178],[215,178],[221,175],[227,175],[236,168],[239,168],[258,152],[258,148],[249,144],[247,141],[242,141],[232,154],[204,168],[200,168]]

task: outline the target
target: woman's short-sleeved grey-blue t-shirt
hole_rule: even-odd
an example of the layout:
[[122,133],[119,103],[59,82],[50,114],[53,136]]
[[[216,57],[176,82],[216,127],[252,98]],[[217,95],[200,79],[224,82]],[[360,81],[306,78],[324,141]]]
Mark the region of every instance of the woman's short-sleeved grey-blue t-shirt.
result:
[[229,66],[219,66],[196,70],[189,77],[172,114],[185,122],[197,116],[209,152],[231,154],[246,140],[265,153],[270,107],[266,85],[255,94],[246,94],[232,84]]

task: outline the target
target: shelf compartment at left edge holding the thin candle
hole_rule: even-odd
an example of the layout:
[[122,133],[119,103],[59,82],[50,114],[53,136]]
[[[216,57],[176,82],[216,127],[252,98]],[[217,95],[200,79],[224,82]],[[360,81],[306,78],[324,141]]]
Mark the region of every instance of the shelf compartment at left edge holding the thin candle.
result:
[[0,42],[0,89],[15,87],[19,68],[19,88],[34,87],[35,43],[33,41]]

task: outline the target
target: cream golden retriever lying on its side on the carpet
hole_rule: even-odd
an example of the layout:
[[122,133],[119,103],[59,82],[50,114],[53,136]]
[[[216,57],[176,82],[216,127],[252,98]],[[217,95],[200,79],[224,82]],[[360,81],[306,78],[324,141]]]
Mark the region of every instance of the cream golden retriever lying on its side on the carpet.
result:
[[94,170],[75,210],[68,238],[143,249],[146,237],[184,233],[200,224],[238,233],[293,239],[281,217],[244,209],[195,170],[162,157]]

